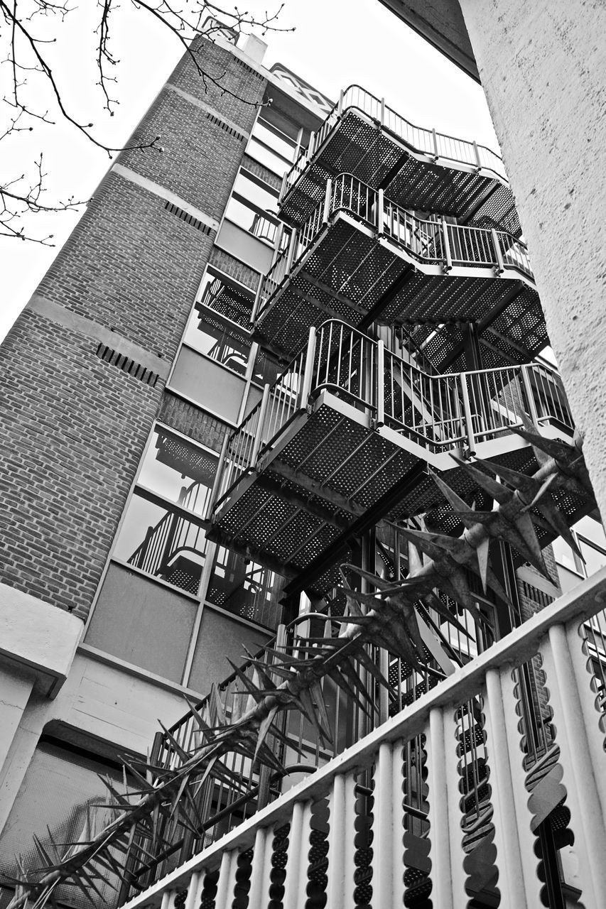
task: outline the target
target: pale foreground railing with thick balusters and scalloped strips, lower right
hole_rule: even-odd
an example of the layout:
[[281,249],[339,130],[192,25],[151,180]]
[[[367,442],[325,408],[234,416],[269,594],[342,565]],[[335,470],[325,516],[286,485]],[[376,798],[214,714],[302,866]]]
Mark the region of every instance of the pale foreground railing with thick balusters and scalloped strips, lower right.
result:
[[[310,882],[331,909],[359,904],[362,882],[364,904],[377,906],[409,904],[419,886],[439,906],[465,905],[470,894],[538,906],[546,874],[551,893],[561,894],[563,883],[582,889],[583,904],[603,906],[605,717],[587,628],[605,591],[602,569],[195,858],[163,869],[155,884],[137,882],[149,885],[127,906],[175,909],[206,904],[211,893],[216,909],[229,909],[241,880],[259,907],[276,893],[295,906]],[[539,760],[529,760],[529,727],[520,723],[531,654],[548,714],[540,725],[550,730]],[[550,869],[544,831],[566,832],[573,865]],[[318,850],[310,852],[318,844],[319,879]],[[286,869],[286,879],[274,868]]]

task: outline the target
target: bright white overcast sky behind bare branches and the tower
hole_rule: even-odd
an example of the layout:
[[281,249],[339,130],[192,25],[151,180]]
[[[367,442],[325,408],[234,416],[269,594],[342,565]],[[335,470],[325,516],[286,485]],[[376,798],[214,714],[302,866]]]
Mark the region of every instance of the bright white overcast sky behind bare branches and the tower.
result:
[[[82,8],[66,17],[56,29],[59,40],[50,47],[56,56],[57,74],[64,95],[83,122],[95,123],[96,134],[107,144],[123,145],[144,115],[181,55],[182,47],[166,29],[127,0],[115,18],[114,55],[120,100],[109,118],[98,103],[94,68],[93,19],[96,4],[84,0]],[[269,8],[268,0],[251,0],[252,13]],[[499,150],[488,107],[480,85],[450,64],[438,51],[390,14],[378,0],[287,0],[278,24],[295,25],[295,32],[268,33],[264,64],[280,62],[328,97],[340,88],[358,83],[399,114],[420,126],[476,139]],[[42,24],[44,27],[44,23]],[[0,77],[5,79],[0,69]],[[39,89],[30,79],[32,100]],[[44,106],[45,97],[40,98]],[[2,132],[2,129],[0,129]],[[110,161],[106,153],[89,144],[69,125],[41,125],[31,134],[20,134],[0,143],[0,168],[18,175],[40,151],[45,155],[46,184],[56,198],[86,199],[93,194]],[[3,301],[0,338],[34,293],[60,246],[65,243],[79,214],[45,216],[31,223],[38,234],[54,234],[55,248],[0,238]]]

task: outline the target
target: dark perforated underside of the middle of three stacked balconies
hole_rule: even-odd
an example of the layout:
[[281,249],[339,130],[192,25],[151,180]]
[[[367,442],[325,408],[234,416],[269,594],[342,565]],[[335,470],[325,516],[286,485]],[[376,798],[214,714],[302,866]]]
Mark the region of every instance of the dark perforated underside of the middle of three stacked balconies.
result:
[[[517,272],[508,269],[497,277],[486,267],[479,267],[477,276],[470,275],[469,268],[461,273],[454,267],[448,275],[433,270],[428,274],[412,256],[405,258],[394,246],[380,243],[350,217],[337,216],[279,286],[255,335],[283,355],[294,355],[310,325],[330,316],[358,325],[402,279],[398,293],[376,314],[381,322],[427,323],[427,335],[444,323],[474,321],[484,329],[493,325],[503,335],[490,337],[492,360],[501,356],[499,365],[528,359],[549,343],[539,295]],[[504,340],[508,336],[515,345]],[[452,349],[446,337],[441,345]],[[440,355],[434,362],[439,360]]]

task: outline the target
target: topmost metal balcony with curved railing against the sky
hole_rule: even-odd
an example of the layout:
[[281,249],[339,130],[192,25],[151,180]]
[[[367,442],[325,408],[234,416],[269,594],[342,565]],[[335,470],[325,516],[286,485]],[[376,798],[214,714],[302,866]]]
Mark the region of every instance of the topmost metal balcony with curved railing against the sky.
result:
[[341,92],[308,150],[284,178],[280,213],[298,226],[344,171],[399,205],[456,215],[520,235],[520,219],[499,155],[483,145],[423,129],[359,85]]

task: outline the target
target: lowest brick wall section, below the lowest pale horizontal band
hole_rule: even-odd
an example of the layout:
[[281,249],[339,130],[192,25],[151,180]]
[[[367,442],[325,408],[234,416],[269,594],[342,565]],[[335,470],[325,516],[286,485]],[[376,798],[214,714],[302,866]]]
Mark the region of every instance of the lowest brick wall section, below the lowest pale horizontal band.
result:
[[0,347],[2,581],[77,614],[95,594],[162,386],[21,316]]

